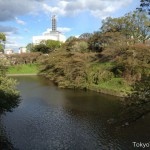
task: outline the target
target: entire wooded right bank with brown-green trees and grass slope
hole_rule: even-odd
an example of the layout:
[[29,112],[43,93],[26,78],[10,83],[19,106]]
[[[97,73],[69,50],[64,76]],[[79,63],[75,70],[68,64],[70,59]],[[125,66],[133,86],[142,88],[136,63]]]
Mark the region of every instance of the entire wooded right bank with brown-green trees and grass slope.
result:
[[100,31],[69,37],[41,58],[41,72],[61,87],[125,93],[150,75],[149,18],[134,11],[108,17]]

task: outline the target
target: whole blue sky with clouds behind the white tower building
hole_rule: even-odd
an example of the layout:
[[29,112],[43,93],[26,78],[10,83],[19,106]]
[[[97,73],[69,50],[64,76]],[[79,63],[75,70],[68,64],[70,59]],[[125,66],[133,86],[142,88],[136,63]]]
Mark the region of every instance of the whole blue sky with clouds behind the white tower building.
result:
[[140,0],[0,0],[0,32],[7,35],[6,48],[17,51],[32,43],[32,36],[51,28],[69,36],[98,31],[106,17],[121,17],[135,10]]

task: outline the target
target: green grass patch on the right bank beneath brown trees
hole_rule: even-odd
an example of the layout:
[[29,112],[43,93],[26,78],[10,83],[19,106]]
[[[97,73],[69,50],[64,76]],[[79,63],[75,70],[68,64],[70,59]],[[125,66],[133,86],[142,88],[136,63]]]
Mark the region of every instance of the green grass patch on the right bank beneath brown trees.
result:
[[[99,69],[103,70],[104,78],[99,81],[97,84],[92,83],[89,87],[90,90],[98,91],[105,94],[111,94],[115,96],[123,96],[126,95],[126,93],[130,92],[131,87],[127,84],[127,82],[121,78],[121,77],[115,77],[114,75],[110,75],[110,78],[107,78],[107,75],[109,76],[109,73],[107,74],[107,69],[111,68],[113,64],[111,63],[98,63],[92,65],[93,73],[97,72]],[[106,77],[106,78],[105,78]]]

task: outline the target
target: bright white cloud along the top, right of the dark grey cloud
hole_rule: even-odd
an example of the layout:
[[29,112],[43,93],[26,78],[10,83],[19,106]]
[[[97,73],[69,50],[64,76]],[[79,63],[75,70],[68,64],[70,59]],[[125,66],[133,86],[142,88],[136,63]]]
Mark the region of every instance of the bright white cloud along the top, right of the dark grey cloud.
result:
[[51,6],[43,3],[43,10],[47,13],[71,16],[88,11],[95,17],[104,18],[111,13],[130,5],[133,0],[59,0]]

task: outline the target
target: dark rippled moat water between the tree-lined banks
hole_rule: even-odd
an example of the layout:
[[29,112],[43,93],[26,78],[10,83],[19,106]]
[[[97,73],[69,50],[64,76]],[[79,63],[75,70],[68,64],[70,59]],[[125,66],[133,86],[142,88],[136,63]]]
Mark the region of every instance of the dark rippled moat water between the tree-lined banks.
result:
[[107,123],[120,113],[116,97],[62,90],[39,77],[17,77],[22,101],[2,117],[6,136],[19,150],[133,149],[147,141],[150,117],[129,128]]

